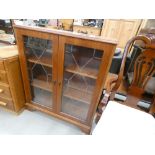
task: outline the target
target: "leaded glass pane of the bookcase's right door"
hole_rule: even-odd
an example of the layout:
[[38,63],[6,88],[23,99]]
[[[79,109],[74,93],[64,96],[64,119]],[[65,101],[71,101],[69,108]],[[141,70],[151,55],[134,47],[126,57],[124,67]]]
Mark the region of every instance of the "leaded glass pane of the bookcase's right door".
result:
[[103,51],[65,45],[61,112],[86,120]]

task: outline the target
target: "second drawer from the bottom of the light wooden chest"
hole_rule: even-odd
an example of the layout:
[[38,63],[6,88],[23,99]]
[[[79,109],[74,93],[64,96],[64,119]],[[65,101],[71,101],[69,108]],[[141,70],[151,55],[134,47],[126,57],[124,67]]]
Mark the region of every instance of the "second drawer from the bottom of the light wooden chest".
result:
[[0,84],[0,97],[11,98],[11,92],[9,86]]

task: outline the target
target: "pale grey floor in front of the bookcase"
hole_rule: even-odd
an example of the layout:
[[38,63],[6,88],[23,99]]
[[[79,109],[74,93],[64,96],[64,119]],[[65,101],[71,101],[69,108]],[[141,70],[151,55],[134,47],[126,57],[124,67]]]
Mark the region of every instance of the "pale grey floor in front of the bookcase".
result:
[[76,126],[38,111],[15,115],[0,109],[0,134],[84,135]]

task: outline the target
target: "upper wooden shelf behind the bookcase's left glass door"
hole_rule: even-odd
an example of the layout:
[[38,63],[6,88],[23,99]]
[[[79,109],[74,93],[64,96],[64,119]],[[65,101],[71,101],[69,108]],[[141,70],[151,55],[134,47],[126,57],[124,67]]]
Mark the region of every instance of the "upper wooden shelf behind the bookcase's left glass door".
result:
[[[48,56],[49,55],[49,56]],[[52,56],[48,54],[46,56],[42,56],[39,60],[34,56],[30,56],[27,60],[31,63],[41,64],[47,67],[52,67]]]

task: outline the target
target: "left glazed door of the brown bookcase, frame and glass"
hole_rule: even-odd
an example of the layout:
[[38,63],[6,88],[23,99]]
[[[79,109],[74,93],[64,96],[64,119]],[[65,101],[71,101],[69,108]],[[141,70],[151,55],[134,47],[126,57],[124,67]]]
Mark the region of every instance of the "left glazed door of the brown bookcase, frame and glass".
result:
[[19,43],[20,62],[27,102],[55,109],[58,37],[27,30],[20,31],[18,40],[22,40],[22,44]]

